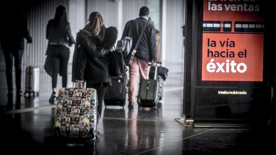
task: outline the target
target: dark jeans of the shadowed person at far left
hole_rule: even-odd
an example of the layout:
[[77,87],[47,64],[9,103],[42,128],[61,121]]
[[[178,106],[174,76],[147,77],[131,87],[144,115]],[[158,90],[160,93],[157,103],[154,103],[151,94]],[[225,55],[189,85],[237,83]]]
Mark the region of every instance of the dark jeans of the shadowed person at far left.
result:
[[6,77],[8,90],[13,90],[13,57],[15,67],[15,84],[16,89],[21,89],[21,63],[23,56],[23,49],[18,50],[3,50],[6,63]]

